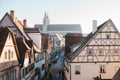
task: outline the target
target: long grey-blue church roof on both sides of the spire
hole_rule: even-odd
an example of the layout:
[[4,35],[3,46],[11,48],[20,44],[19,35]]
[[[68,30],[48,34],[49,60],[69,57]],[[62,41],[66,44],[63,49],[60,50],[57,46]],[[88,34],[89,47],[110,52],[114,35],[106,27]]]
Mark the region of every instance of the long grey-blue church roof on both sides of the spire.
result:
[[[42,24],[36,24],[41,31],[43,30]],[[48,31],[80,31],[82,32],[80,24],[50,24],[47,26]]]

